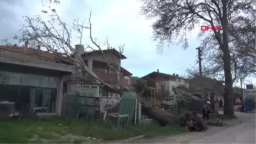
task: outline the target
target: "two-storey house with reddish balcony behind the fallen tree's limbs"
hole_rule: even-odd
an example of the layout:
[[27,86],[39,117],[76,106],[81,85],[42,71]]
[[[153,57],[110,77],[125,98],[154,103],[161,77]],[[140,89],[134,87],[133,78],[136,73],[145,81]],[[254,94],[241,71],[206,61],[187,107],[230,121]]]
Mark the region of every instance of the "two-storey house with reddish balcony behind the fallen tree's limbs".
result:
[[[129,88],[132,74],[125,68],[121,67],[121,60],[126,59],[126,57],[119,53],[119,51],[116,49],[105,49],[103,51],[96,50],[88,52],[84,51],[83,45],[75,45],[75,48],[78,53],[81,53],[81,58],[83,61],[85,61],[87,67],[89,67],[89,69],[91,69],[91,71],[93,71],[93,73],[95,73],[99,79],[115,87]],[[108,63],[111,63],[111,67],[113,68],[109,67],[107,61]],[[117,69],[120,73],[117,74],[115,69]],[[119,75],[119,79],[117,75]],[[69,79],[70,78],[67,77],[66,80]],[[75,85],[71,87],[69,91],[74,89],[80,93],[83,93],[83,91],[88,91],[88,89],[95,89],[95,93],[92,93],[92,95],[95,95],[96,97],[113,95],[113,93],[110,91],[101,89],[99,85],[95,85],[93,83],[89,83],[87,85]]]

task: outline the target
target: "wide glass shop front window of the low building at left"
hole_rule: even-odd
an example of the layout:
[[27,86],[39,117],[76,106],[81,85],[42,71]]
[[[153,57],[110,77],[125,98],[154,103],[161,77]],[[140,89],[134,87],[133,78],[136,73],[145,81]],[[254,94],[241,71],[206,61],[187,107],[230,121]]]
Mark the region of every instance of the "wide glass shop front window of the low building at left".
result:
[[18,105],[17,111],[56,113],[57,77],[0,72],[0,101]]

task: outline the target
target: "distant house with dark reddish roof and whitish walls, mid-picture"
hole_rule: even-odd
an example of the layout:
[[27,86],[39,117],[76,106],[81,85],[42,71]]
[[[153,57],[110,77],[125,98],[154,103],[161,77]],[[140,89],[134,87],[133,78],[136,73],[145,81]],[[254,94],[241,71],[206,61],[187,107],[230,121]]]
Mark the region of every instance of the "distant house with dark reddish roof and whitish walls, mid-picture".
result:
[[141,79],[147,80],[148,87],[155,87],[157,91],[168,91],[171,95],[174,94],[173,88],[177,86],[189,87],[188,79],[179,77],[175,73],[173,75],[160,73],[159,69],[141,77]]

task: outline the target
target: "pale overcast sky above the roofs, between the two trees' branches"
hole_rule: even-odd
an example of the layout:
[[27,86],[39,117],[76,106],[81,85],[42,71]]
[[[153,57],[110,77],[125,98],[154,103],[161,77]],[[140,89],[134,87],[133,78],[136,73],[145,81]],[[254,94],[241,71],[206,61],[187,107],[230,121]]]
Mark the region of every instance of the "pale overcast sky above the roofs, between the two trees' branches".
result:
[[[24,15],[44,15],[41,10],[47,9],[47,0],[0,0],[0,39],[19,34],[19,26]],[[125,44],[124,55],[127,59],[121,62],[122,67],[134,76],[143,76],[157,71],[185,75],[187,67],[197,67],[196,47],[199,46],[195,29],[189,35],[189,48],[180,45],[165,47],[163,53],[157,54],[156,43],[152,40],[152,21],[139,14],[140,4],[136,0],[62,0],[60,5],[52,5],[67,23],[73,19],[85,18],[92,11],[93,37],[105,41],[108,37],[113,45]],[[85,34],[87,36],[87,34]],[[85,37],[85,42],[88,37]],[[73,39],[73,43],[78,43]]]

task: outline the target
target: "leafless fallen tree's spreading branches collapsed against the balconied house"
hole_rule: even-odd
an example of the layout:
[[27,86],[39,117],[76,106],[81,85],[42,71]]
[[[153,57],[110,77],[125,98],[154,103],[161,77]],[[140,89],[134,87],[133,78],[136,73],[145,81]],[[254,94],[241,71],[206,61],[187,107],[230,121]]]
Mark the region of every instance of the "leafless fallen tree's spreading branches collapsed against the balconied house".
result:
[[[45,13],[45,12],[44,12]],[[95,38],[92,35],[92,25],[91,25],[91,13],[89,15],[89,25],[85,25],[84,21],[79,21],[75,19],[72,27],[68,27],[67,23],[63,22],[55,9],[51,9],[49,14],[49,21],[44,21],[41,16],[35,15],[35,17],[25,16],[25,25],[21,27],[21,37],[17,37],[19,41],[29,41],[31,47],[42,47],[47,49],[51,53],[55,53],[56,57],[51,59],[51,61],[69,63],[75,65],[76,69],[79,69],[79,73],[73,75],[74,81],[81,81],[84,79],[91,79],[93,83],[99,84],[108,88],[109,91],[116,93],[121,93],[122,85],[120,83],[120,67],[117,67],[116,61],[112,61],[113,58],[108,57],[103,49],[114,49],[109,44],[109,41],[105,45],[100,45],[97,43]],[[81,52],[77,51],[75,47],[71,44],[71,38],[73,33],[77,34],[79,37],[79,44],[83,45],[83,35],[84,30],[89,30],[89,39],[93,45],[86,45],[85,52],[89,51],[101,51],[101,55],[107,61],[107,65],[111,68],[112,71],[116,73],[117,76],[117,85],[109,85],[105,81],[99,79],[92,69],[89,69],[81,57]],[[123,52],[123,46],[119,47],[120,52]],[[83,53],[84,51],[82,51]],[[43,56],[43,55],[42,55]],[[50,60],[50,59],[48,59]]]

